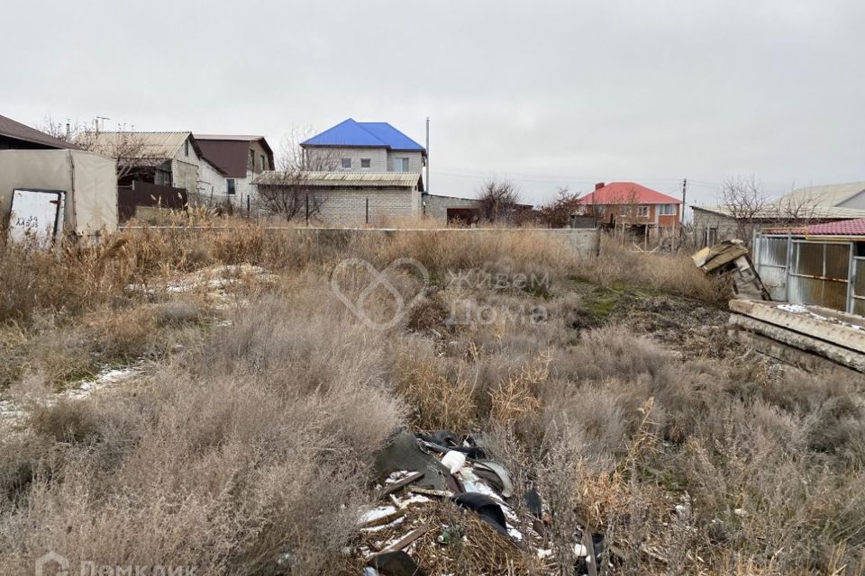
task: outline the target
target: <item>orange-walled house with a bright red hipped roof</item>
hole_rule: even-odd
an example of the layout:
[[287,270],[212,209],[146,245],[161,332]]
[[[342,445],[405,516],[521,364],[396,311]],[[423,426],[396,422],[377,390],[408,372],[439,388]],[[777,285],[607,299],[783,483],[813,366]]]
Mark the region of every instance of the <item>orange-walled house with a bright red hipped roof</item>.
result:
[[681,221],[681,200],[635,182],[599,182],[579,202],[586,215],[609,229],[674,232]]

